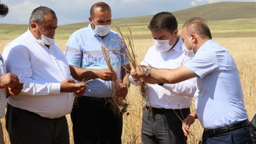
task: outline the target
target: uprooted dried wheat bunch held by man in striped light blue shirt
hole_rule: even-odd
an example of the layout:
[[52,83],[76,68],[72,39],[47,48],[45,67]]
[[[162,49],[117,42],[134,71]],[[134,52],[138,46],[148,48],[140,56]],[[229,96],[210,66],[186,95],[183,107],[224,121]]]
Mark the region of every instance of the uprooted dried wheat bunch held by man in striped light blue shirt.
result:
[[[101,49],[103,52],[103,56],[106,60],[108,69],[110,71],[115,71],[115,68],[113,68],[112,64],[111,64],[111,55],[112,52],[114,51],[114,49],[112,50],[110,49],[106,49],[105,46],[103,46],[103,44],[101,44]],[[121,116],[121,114],[124,114],[125,112],[127,112],[127,109],[129,107],[129,104],[127,102],[126,99],[120,99],[117,98],[115,96],[115,92],[121,88],[121,81],[119,79],[114,79],[114,89],[112,89],[112,99],[108,99],[108,101],[106,103],[110,103],[110,108],[112,109],[112,111],[114,112],[114,114],[116,114],[117,116]],[[128,115],[128,114],[127,114]]]

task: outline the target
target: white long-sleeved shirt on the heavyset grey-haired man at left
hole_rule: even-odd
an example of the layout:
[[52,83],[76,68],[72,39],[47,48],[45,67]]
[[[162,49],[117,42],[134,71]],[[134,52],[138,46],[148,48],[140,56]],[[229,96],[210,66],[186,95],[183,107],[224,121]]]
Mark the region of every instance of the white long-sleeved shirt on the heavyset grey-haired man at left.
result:
[[6,101],[42,117],[58,118],[69,114],[73,93],[60,93],[61,82],[72,78],[65,56],[51,44],[49,49],[40,44],[28,30],[4,48],[7,72],[20,76],[24,83],[21,93]]

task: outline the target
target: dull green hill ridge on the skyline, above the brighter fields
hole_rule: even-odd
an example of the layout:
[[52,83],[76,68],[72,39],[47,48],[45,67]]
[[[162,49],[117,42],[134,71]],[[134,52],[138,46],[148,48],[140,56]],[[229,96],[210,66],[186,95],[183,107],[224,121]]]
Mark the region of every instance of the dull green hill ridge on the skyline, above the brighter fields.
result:
[[[171,12],[171,11],[170,11]],[[192,17],[201,17],[207,21],[216,20],[232,20],[232,19],[249,19],[256,18],[256,2],[216,2],[204,4],[188,9],[172,12],[179,23],[184,23]],[[112,19],[112,23],[134,24],[134,23],[149,23],[154,15]],[[123,20],[123,21],[121,21]],[[88,22],[74,23],[70,25],[88,25]]]

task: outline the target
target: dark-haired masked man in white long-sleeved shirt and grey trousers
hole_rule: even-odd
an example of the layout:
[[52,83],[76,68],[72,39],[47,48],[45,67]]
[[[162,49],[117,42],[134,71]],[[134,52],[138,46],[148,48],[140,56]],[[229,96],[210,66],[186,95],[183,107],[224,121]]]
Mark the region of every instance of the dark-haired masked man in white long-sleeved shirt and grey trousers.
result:
[[[155,45],[148,49],[141,65],[177,68],[190,59],[183,54],[182,40],[177,35],[177,26],[177,20],[170,12],[160,12],[152,18],[148,28]],[[134,69],[131,70],[129,80],[135,85],[135,81],[139,80]],[[143,81],[149,84],[146,91],[148,102],[144,102],[146,107],[142,117],[142,142],[186,144],[187,137],[183,134],[180,118],[184,119],[190,114],[190,106],[196,90],[195,79],[178,84],[164,84],[147,75],[143,77]],[[150,106],[152,113],[149,111]]]

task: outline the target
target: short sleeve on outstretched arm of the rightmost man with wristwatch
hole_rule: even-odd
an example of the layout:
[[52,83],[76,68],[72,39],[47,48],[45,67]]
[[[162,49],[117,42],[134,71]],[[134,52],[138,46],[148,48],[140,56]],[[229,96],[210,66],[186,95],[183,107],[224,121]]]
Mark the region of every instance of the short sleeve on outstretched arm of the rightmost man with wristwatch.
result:
[[202,79],[205,75],[218,68],[218,61],[213,50],[203,49],[198,51],[184,66],[194,71]]

